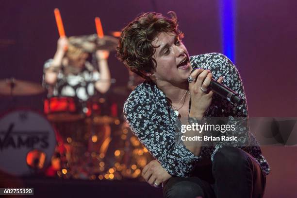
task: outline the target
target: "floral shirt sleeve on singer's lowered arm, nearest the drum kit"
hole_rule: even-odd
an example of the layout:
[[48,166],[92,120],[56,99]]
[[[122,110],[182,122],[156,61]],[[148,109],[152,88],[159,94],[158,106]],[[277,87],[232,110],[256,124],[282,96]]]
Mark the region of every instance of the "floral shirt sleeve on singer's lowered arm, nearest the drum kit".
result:
[[174,176],[190,176],[201,157],[178,144],[175,131],[155,119],[154,110],[142,95],[132,94],[124,105],[124,116],[132,132],[165,170]]

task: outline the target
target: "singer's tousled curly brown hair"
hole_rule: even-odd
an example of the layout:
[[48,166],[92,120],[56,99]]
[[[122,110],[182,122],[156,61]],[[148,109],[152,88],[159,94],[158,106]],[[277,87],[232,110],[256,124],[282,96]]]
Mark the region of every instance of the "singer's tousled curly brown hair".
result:
[[135,18],[121,32],[116,57],[132,72],[148,79],[141,71],[152,72],[156,69],[153,54],[156,46],[152,41],[160,33],[174,33],[180,38],[183,33],[178,29],[178,19],[175,12],[170,11],[167,18],[160,13],[148,12]]

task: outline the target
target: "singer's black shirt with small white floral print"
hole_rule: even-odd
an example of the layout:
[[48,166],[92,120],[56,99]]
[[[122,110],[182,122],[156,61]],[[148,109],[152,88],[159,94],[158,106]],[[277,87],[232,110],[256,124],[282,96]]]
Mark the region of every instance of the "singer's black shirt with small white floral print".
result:
[[[193,68],[211,70],[215,80],[224,76],[223,84],[246,99],[240,75],[225,55],[218,53],[195,55],[190,57],[190,61]],[[211,158],[213,161],[216,151],[224,146],[223,143],[203,146],[199,156],[195,156],[184,144],[177,144],[176,121],[179,118],[167,102],[164,92],[153,82],[145,81],[131,92],[124,105],[124,116],[132,132],[162,167],[174,176],[191,176],[195,164],[203,158]],[[247,117],[247,103],[232,104],[214,94],[205,117]],[[235,132],[240,133],[240,131]],[[238,147],[248,152],[259,163],[264,174],[268,175],[270,168],[257,141],[249,133],[248,127],[246,132],[247,136],[244,137],[257,146]]]

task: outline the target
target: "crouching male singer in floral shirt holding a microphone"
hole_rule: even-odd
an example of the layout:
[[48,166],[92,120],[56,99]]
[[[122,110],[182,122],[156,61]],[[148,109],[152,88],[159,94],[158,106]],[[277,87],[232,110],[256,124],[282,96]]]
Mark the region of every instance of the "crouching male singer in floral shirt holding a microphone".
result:
[[[163,183],[166,198],[263,197],[269,165],[259,146],[176,143],[181,118],[192,125],[210,117],[248,114],[246,102],[230,103],[209,89],[214,78],[246,99],[233,63],[218,53],[189,56],[177,17],[168,14],[170,18],[158,13],[135,18],[122,30],[117,47],[117,58],[145,79],[124,105],[133,133],[156,159],[144,167],[144,179],[155,187]],[[240,141],[256,142],[248,126],[236,126],[230,133],[244,134]]]

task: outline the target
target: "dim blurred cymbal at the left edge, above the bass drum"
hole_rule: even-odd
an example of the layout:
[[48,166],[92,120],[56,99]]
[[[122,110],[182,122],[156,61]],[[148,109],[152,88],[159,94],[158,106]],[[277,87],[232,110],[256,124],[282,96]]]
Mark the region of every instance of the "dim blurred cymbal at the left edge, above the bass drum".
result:
[[2,95],[34,95],[42,93],[44,88],[38,83],[32,83],[15,78],[0,80],[0,94]]

